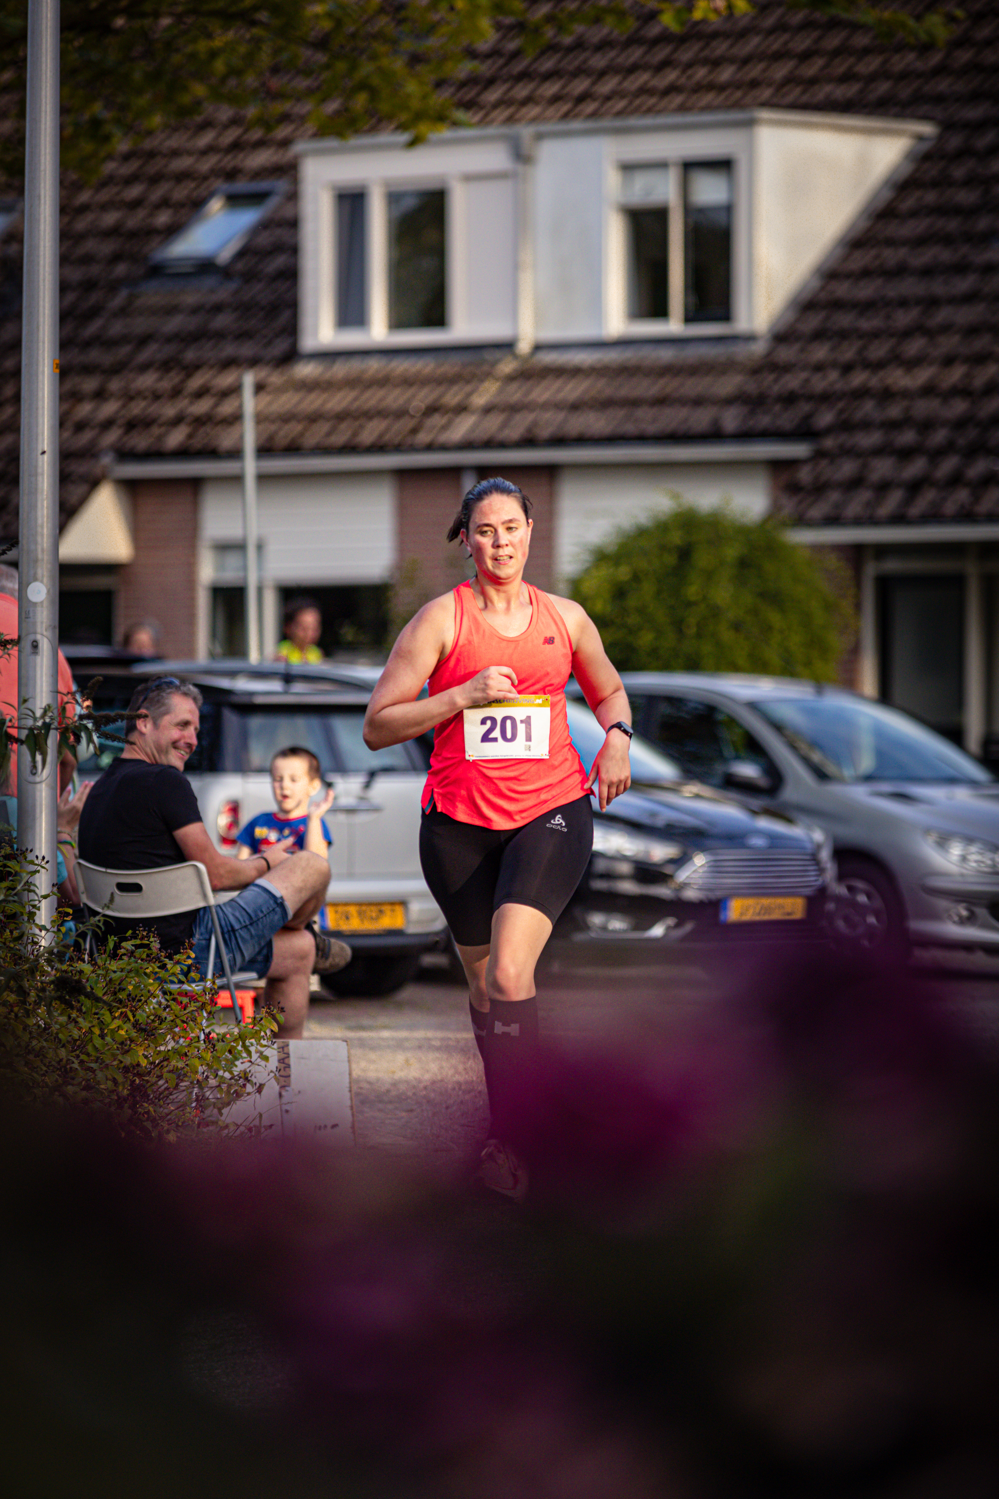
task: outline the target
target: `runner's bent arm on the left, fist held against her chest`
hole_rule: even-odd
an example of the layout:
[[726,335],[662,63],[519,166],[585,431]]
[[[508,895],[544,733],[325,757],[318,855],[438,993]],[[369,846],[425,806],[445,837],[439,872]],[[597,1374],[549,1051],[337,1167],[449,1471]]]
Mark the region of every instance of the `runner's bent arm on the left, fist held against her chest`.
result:
[[419,697],[424,682],[443,661],[452,642],[454,603],[451,594],[445,594],[424,604],[392,646],[364,715],[364,744],[368,750],[415,739],[464,708],[517,697],[517,676],[508,666],[484,667],[446,693]]

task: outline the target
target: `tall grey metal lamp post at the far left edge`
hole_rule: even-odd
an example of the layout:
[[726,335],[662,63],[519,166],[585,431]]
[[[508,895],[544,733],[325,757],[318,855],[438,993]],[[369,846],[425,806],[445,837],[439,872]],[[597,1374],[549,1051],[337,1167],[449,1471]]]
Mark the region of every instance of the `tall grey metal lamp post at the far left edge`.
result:
[[[21,519],[18,552],[18,729],[52,711],[48,754],[18,752],[18,842],[45,860],[34,890],[54,884],[58,799],[58,0],[30,0],[24,153],[24,328],[21,339]],[[40,899],[51,929],[55,896]]]

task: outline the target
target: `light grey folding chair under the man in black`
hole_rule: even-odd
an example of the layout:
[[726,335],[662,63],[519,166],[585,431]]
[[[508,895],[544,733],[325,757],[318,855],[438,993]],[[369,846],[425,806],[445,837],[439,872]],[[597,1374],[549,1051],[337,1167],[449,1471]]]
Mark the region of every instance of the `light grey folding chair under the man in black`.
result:
[[[208,979],[214,973],[217,947],[232,1001],[232,1018],[237,1025],[241,1022],[235,986],[238,980],[256,979],[256,974],[232,973],[229,953],[222,940],[214,892],[204,863],[189,859],[186,863],[168,863],[162,869],[102,869],[100,865],[78,859],[75,871],[82,904],[102,916],[147,920],[156,916],[180,916],[181,911],[195,911],[207,905],[211,913]],[[90,952],[90,934],[87,934],[87,952]],[[195,989],[199,985],[190,983],[183,988]]]

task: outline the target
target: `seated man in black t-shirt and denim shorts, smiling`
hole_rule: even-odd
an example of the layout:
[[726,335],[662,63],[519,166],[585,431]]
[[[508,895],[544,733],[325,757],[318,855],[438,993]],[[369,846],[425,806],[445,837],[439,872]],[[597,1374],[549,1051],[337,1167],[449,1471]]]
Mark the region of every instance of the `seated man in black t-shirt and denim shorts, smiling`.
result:
[[[264,1000],[285,1012],[279,1036],[303,1034],[310,973],[333,973],[350,949],[309,922],[322,905],[330,865],[315,853],[292,853],[291,838],[253,859],[219,853],[181,770],[198,744],[201,693],[175,676],[153,678],[132,694],[127,744],[94,784],[79,818],[79,857],[106,869],[153,869],[198,859],[213,890],[240,890],[217,908],[232,970],[267,976]],[[195,962],[207,977],[211,914],[186,911],[151,920],[112,919],[111,931],[142,926],[166,952],[193,938]],[[216,973],[222,962],[216,958]]]

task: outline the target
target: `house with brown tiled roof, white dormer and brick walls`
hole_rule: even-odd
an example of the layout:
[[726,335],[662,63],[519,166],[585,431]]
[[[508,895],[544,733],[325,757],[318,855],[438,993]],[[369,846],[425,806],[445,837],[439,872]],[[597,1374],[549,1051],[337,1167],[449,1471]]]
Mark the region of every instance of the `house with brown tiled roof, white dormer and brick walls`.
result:
[[[410,150],[214,111],[63,195],[63,639],[241,643],[240,378],[262,621],[328,645],[461,576],[503,472],[532,579],[678,492],[777,511],[855,573],[849,672],[999,733],[999,18],[942,51],[762,0],[674,36],[502,39],[470,127]],[[1,208],[1,205],[0,205]],[[19,226],[0,211],[0,534],[16,537]],[[668,663],[664,663],[666,666]]]

